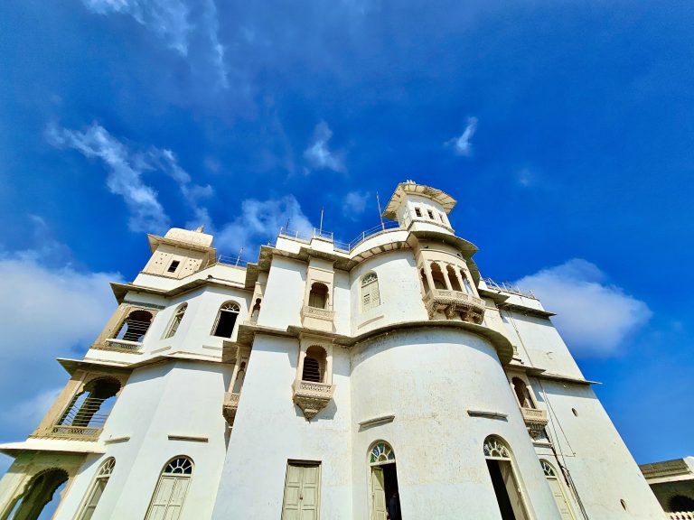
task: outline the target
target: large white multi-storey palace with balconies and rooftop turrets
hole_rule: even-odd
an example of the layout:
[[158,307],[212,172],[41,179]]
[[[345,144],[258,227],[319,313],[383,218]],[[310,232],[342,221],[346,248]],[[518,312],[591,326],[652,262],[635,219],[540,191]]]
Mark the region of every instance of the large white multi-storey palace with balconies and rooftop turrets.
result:
[[150,235],[42,422],[0,445],[0,520],[666,518],[552,313],[482,278],[454,206],[403,182],[371,234],[283,230],[247,265]]

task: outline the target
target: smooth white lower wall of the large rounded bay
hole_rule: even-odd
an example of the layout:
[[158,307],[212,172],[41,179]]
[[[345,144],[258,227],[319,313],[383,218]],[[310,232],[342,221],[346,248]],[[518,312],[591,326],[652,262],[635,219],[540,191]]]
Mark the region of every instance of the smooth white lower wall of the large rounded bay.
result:
[[[492,344],[465,330],[426,327],[352,348],[352,482],[355,517],[370,515],[374,441],[395,450],[403,515],[498,519],[483,441],[501,436],[513,450],[532,518],[558,518],[501,363]],[[478,410],[507,415],[472,417]],[[395,415],[392,422],[358,422]]]

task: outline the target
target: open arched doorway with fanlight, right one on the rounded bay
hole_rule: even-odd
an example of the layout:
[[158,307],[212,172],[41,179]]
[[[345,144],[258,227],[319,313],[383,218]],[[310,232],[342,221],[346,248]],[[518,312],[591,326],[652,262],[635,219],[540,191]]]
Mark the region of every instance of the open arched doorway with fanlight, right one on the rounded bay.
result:
[[511,450],[504,441],[490,436],[484,440],[484,458],[502,520],[528,520],[521,486],[513,469]]

